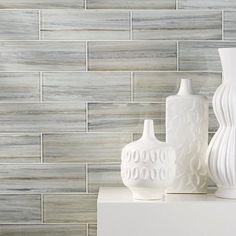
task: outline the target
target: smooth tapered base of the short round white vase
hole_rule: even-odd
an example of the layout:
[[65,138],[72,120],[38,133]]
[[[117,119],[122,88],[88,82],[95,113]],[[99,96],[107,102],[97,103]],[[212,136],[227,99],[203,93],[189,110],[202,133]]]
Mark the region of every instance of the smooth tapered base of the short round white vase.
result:
[[135,188],[130,189],[133,193],[133,198],[135,200],[144,200],[144,201],[152,201],[152,200],[160,200],[164,196],[164,191],[155,191],[154,189],[147,188]]

